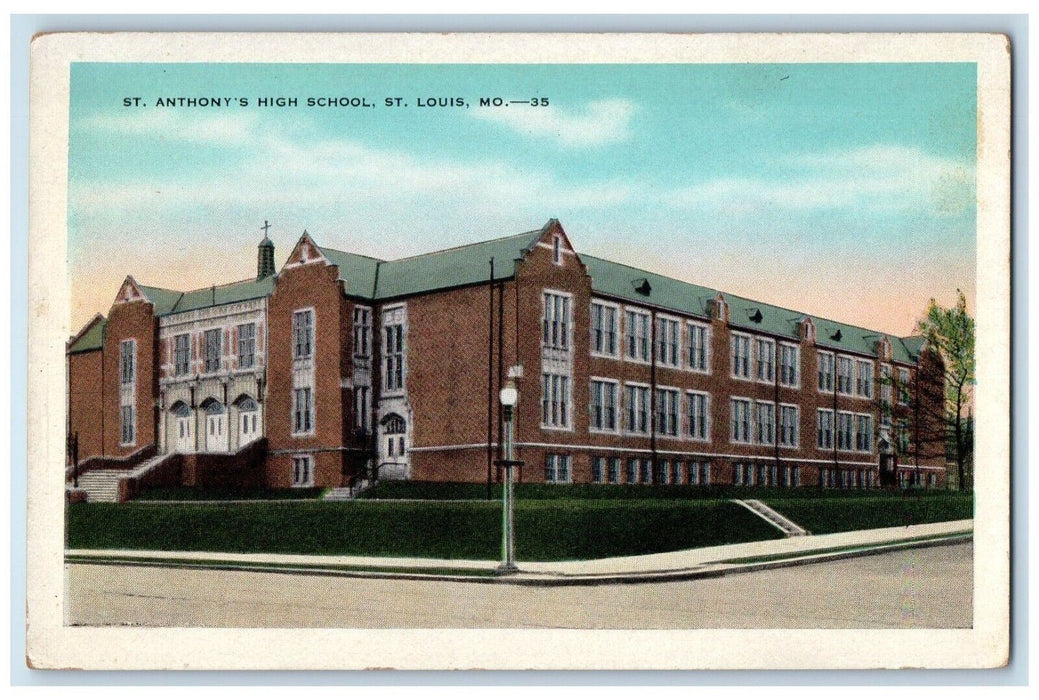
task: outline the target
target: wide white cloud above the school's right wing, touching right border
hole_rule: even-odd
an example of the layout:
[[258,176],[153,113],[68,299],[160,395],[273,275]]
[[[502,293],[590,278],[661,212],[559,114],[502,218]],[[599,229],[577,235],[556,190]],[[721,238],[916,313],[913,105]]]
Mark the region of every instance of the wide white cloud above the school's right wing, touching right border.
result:
[[[665,204],[727,212],[855,210],[860,215],[961,214],[974,206],[974,166],[917,147],[875,145],[793,156],[768,177],[716,178],[663,193]],[[777,169],[777,166],[778,169]]]

